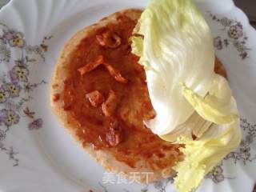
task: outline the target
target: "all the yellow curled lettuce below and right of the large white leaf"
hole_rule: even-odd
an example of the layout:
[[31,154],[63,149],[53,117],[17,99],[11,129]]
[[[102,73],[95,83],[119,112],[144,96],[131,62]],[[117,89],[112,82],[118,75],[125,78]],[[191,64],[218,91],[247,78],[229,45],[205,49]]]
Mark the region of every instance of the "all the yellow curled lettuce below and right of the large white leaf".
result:
[[[174,167],[178,172],[174,184],[178,191],[190,192],[198,187],[205,174],[239,145],[241,129],[236,102],[222,76],[214,75],[206,97],[196,94],[184,84],[182,94],[196,112],[185,123],[185,128],[178,130],[178,134],[174,132],[161,138],[171,142],[176,137],[175,142],[185,144],[185,148],[181,148],[185,158]],[[195,140],[191,133],[197,136]]]

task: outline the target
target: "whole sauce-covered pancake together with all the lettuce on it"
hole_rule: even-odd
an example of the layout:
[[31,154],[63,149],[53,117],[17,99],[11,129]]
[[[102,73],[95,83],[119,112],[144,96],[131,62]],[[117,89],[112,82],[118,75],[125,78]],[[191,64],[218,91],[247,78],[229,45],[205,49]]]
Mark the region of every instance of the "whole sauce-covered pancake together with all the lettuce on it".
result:
[[190,0],[152,0],[74,34],[54,70],[54,113],[106,170],[191,191],[241,139],[226,70]]

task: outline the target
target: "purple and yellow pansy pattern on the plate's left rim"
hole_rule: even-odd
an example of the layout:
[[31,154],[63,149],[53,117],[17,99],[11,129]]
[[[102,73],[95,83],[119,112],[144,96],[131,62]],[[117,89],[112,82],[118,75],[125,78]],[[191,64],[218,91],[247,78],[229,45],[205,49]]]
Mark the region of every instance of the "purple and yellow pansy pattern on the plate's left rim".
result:
[[[27,125],[29,130],[38,130],[43,124],[42,118],[36,118],[28,102],[33,99],[30,92],[46,84],[46,81],[30,82],[30,66],[37,61],[33,58],[34,55],[39,55],[45,60],[46,41],[50,38],[52,37],[45,37],[40,46],[30,46],[26,44],[22,32],[0,23],[0,64],[6,62],[8,66],[12,66],[8,73],[0,76],[0,151],[8,155],[13,161],[13,166],[18,166],[18,152],[14,150],[14,146],[7,147],[5,144],[12,126],[17,125],[20,118],[30,119]],[[14,51],[20,51],[21,58],[12,59]]]

